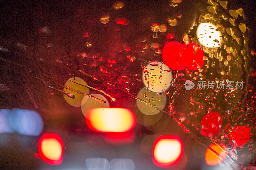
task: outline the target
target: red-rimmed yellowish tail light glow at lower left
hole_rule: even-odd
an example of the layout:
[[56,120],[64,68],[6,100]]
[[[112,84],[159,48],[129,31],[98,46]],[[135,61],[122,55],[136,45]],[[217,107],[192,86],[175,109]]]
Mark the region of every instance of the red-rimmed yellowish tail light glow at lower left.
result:
[[43,134],[37,148],[40,157],[48,164],[59,165],[63,159],[63,142],[61,137],[55,133]]

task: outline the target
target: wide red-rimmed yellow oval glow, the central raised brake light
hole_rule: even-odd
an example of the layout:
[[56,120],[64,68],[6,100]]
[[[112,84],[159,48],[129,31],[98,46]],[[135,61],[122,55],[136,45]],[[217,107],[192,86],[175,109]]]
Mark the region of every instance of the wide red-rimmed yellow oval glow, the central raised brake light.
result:
[[90,108],[85,114],[87,126],[96,132],[128,132],[136,117],[128,108]]

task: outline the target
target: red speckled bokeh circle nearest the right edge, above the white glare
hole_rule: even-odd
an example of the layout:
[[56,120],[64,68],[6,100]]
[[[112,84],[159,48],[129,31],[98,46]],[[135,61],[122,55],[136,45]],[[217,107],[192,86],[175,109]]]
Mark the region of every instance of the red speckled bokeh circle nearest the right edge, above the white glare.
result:
[[234,142],[236,146],[243,146],[251,137],[251,128],[249,126],[235,126],[229,133],[230,140]]

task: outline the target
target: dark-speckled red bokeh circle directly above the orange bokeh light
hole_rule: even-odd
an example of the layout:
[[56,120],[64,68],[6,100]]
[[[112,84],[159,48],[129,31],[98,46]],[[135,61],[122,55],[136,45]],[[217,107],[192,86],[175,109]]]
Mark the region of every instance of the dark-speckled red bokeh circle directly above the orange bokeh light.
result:
[[212,137],[216,135],[222,126],[220,113],[212,112],[206,114],[201,121],[202,135]]

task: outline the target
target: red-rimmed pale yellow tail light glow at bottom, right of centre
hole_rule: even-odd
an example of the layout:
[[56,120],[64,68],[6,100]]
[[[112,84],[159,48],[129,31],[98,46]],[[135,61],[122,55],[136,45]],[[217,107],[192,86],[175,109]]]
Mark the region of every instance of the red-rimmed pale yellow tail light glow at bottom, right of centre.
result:
[[157,166],[169,167],[177,164],[183,154],[180,137],[163,135],[156,138],[153,146],[153,162]]

